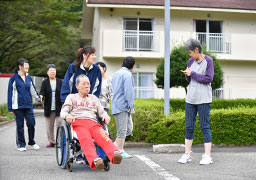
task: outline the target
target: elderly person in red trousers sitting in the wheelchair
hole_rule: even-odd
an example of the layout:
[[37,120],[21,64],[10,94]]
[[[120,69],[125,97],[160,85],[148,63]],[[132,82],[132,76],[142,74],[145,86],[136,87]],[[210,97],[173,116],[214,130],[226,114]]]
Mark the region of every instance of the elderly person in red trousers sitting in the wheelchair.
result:
[[110,122],[110,117],[104,111],[99,99],[88,94],[90,91],[88,77],[79,75],[76,78],[76,88],[78,93],[67,96],[61,109],[61,117],[72,125],[91,169],[104,169],[104,161],[97,154],[93,139],[106,153],[110,162],[120,164],[122,160],[120,151],[97,121],[97,114],[106,124]]

